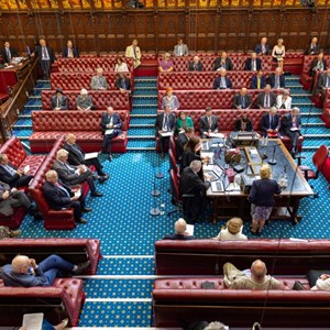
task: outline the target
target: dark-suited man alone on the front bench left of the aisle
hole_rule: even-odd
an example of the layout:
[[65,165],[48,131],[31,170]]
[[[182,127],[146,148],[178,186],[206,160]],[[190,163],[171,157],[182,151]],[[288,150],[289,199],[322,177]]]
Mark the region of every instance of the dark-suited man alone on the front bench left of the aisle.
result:
[[101,128],[103,134],[102,152],[109,154],[109,161],[111,162],[111,140],[122,133],[122,120],[117,112],[113,112],[112,106],[109,106],[107,112],[102,114]]

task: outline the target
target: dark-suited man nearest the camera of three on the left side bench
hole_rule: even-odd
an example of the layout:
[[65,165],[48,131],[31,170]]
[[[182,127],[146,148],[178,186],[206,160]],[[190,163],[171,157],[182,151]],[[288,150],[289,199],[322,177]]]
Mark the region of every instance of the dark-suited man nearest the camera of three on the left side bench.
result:
[[91,208],[86,207],[84,194],[80,194],[79,197],[75,196],[74,190],[69,186],[58,182],[56,170],[48,170],[46,173],[43,191],[52,209],[64,210],[73,208],[75,221],[87,223],[87,220],[82,219],[81,216],[82,212],[90,212]]

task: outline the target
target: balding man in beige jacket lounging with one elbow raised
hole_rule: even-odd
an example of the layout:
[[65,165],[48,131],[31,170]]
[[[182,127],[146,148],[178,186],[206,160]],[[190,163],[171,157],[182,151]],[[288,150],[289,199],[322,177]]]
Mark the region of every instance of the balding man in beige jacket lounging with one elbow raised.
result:
[[239,271],[233,264],[223,265],[223,282],[230,289],[250,290],[280,290],[283,284],[267,275],[265,263],[256,260],[252,263],[251,270]]

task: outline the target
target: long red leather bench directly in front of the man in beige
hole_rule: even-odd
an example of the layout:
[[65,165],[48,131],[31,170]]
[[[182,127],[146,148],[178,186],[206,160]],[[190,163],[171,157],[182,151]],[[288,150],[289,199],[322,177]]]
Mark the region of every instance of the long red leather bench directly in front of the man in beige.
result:
[[261,258],[274,274],[306,275],[309,270],[329,268],[329,256],[330,240],[160,240],[155,242],[155,272],[157,275],[218,275],[227,262],[243,270]]

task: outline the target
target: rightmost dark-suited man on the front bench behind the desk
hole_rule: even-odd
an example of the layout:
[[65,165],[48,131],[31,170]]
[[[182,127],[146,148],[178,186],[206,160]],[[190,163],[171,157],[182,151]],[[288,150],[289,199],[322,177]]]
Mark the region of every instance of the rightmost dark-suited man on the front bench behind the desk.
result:
[[298,153],[298,139],[301,131],[301,118],[299,108],[293,108],[290,113],[287,113],[282,119],[282,133],[290,139],[292,155],[296,158]]

